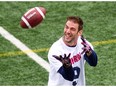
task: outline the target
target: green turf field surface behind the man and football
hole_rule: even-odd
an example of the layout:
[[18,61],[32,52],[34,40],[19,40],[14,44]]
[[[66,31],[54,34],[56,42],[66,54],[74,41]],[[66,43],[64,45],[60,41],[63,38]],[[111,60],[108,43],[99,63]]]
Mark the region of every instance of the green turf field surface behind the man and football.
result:
[[[30,8],[43,6],[46,18],[37,27],[26,30],[19,25],[21,16]],[[47,60],[47,50],[61,37],[67,16],[78,15],[84,21],[84,36],[98,54],[98,65],[87,63],[88,86],[116,85],[116,2],[0,2],[0,26]],[[111,42],[110,40],[113,40]],[[105,41],[105,43],[102,43]],[[99,43],[96,45],[96,43]],[[11,54],[12,52],[12,54]],[[46,86],[48,72],[0,35],[0,85]]]

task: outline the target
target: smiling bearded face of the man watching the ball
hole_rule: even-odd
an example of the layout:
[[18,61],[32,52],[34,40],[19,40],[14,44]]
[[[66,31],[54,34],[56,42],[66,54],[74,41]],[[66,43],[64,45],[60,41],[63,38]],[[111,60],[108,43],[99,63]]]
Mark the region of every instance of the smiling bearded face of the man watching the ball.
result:
[[78,38],[78,27],[79,24],[73,21],[67,21],[64,27],[64,37],[63,40],[68,45],[75,45]]

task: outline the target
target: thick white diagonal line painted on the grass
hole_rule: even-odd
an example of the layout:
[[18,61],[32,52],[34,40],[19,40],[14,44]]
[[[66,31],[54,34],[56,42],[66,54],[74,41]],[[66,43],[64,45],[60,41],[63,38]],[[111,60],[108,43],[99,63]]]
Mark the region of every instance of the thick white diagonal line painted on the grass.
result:
[[25,54],[27,54],[30,58],[32,58],[34,61],[36,61],[39,65],[41,65],[43,68],[45,68],[49,72],[50,70],[49,63],[45,61],[44,59],[42,59],[40,56],[38,56],[36,53],[34,53],[20,40],[15,38],[12,34],[10,34],[8,31],[6,31],[2,27],[0,27],[0,34],[1,36],[3,36],[8,41],[10,41],[12,44],[14,44],[17,48],[19,48],[21,51],[23,51]]

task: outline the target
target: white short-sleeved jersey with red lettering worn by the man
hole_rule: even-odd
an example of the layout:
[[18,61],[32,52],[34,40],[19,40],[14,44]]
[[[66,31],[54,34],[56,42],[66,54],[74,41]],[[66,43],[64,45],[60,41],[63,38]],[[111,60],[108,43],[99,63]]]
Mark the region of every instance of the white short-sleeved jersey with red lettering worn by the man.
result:
[[[67,46],[62,38],[56,41],[50,48],[48,53],[48,60],[50,63],[50,73],[48,86],[73,86],[76,83],[78,86],[85,86],[85,70],[84,70],[84,54],[81,54],[83,51],[83,45],[81,44],[82,40],[79,37],[77,40],[77,45],[75,47]],[[88,41],[87,41],[88,42]],[[88,42],[88,44],[93,49],[93,46]],[[75,79],[73,81],[68,81],[62,77],[57,71],[62,66],[62,63],[54,58],[52,55],[70,55],[70,60],[72,67],[74,68]]]

